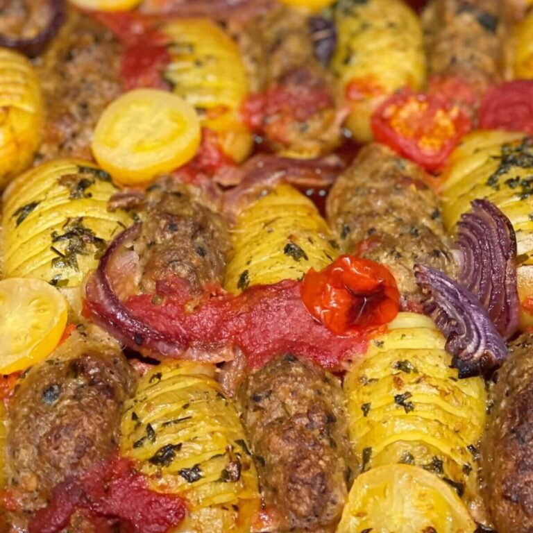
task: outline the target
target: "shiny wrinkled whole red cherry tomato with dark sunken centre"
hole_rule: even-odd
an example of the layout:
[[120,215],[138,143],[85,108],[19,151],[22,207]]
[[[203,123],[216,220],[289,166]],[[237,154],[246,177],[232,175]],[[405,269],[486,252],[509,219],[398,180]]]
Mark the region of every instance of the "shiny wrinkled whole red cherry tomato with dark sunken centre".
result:
[[389,323],[398,314],[400,301],[387,267],[353,255],[341,255],[320,272],[311,269],[300,294],[307,310],[335,335]]

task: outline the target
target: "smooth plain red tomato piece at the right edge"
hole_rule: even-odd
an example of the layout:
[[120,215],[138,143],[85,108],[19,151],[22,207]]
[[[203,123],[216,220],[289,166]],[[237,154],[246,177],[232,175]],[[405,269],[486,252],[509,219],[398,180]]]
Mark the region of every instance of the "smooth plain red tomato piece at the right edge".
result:
[[485,94],[480,128],[533,133],[533,80],[502,83]]

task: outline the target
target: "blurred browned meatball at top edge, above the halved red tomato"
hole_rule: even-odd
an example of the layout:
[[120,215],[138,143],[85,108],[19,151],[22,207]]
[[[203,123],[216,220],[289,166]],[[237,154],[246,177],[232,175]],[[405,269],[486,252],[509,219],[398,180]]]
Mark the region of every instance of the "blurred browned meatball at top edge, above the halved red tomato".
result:
[[500,0],[432,0],[423,13],[430,74],[455,76],[477,96],[502,79]]

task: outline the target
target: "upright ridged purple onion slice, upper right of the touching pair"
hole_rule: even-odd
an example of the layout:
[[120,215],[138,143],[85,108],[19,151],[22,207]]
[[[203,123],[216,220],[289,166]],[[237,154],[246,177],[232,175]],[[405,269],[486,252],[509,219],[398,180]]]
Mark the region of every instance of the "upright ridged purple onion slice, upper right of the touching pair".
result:
[[518,328],[516,236],[511,221],[487,200],[472,202],[457,225],[463,264],[459,283],[477,296],[504,339]]

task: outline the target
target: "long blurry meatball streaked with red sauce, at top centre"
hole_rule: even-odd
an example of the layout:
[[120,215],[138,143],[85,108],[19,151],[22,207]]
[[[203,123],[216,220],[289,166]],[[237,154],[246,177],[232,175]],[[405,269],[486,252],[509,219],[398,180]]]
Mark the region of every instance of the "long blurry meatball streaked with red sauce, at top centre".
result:
[[339,144],[330,78],[314,56],[307,16],[278,6],[236,33],[252,90],[282,87],[296,102],[290,110],[267,113],[262,134],[271,149],[312,158]]

